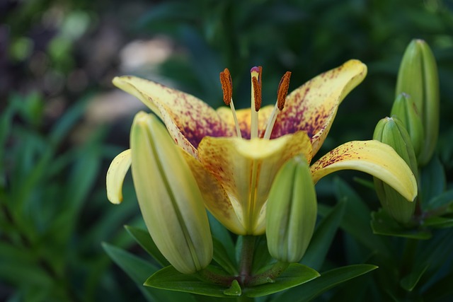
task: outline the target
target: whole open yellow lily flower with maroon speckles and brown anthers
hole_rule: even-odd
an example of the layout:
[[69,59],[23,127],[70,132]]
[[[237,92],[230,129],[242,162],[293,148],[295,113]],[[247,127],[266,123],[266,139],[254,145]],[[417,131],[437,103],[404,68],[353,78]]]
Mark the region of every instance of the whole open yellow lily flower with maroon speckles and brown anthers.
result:
[[[350,60],[326,71],[287,95],[288,72],[280,81],[277,103],[260,108],[261,69],[251,69],[251,108],[235,110],[231,76],[220,74],[224,102],[230,108],[214,110],[193,95],[144,79],[122,76],[113,83],[136,96],[166,124],[184,151],[205,206],[230,231],[240,235],[265,232],[266,202],[280,167],[296,155],[308,163],[319,151],[345,96],[366,76],[367,67]],[[126,160],[125,160],[126,161]],[[118,202],[126,164],[112,165],[107,184]],[[120,168],[116,168],[120,167]],[[365,171],[400,192],[415,198],[415,178],[406,163],[379,141],[353,141],[311,165],[316,183],[335,170]],[[113,193],[115,192],[115,193]]]

